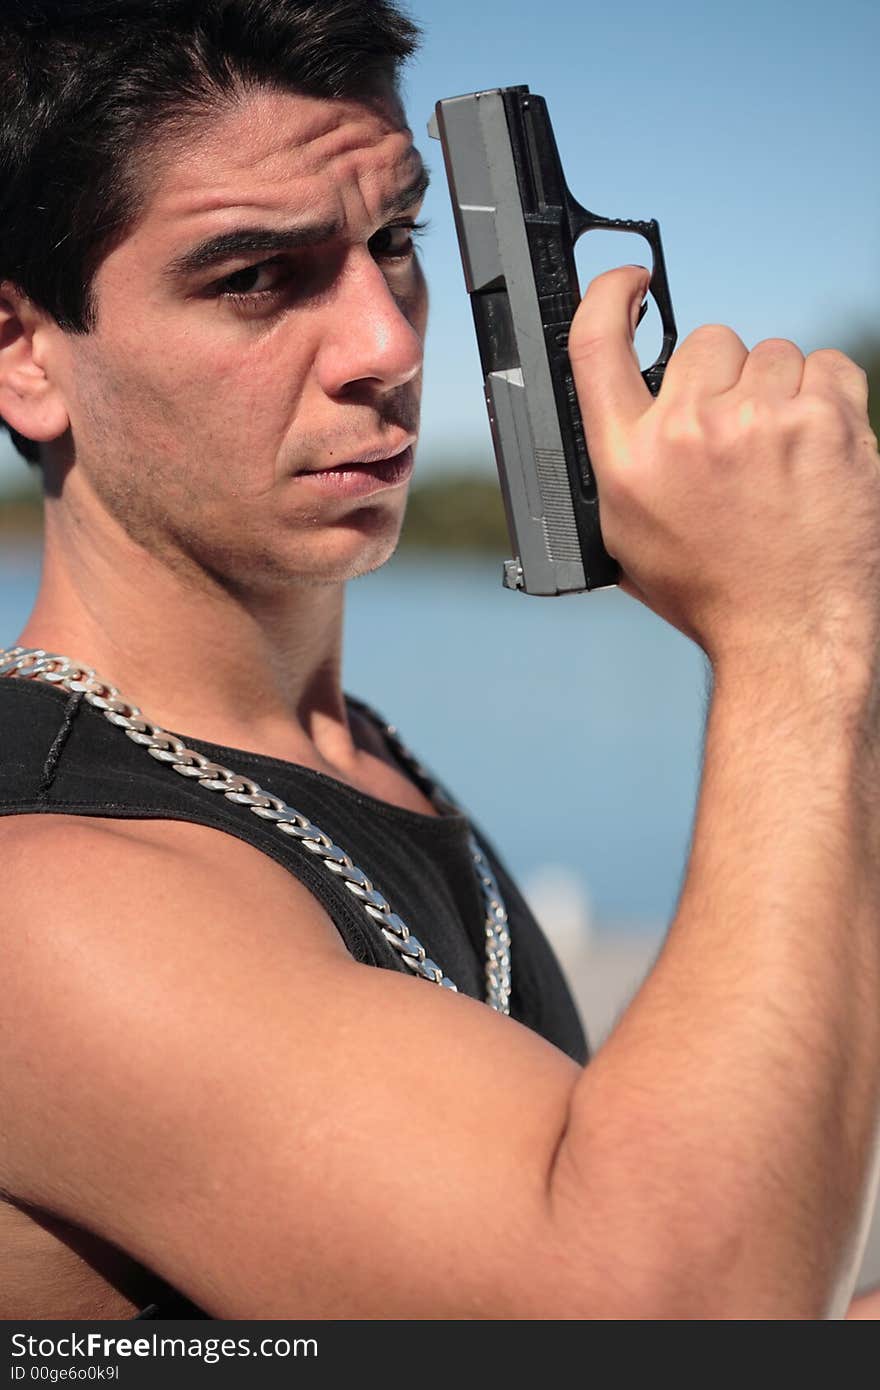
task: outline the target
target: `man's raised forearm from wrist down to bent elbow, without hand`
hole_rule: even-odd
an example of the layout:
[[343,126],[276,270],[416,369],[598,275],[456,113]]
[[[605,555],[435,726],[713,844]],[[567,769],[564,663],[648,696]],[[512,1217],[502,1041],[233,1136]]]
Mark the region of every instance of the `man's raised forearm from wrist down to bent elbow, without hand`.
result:
[[870,706],[867,677],[797,652],[719,678],[681,902],[555,1175],[614,1213],[658,1315],[845,1309],[880,1070]]

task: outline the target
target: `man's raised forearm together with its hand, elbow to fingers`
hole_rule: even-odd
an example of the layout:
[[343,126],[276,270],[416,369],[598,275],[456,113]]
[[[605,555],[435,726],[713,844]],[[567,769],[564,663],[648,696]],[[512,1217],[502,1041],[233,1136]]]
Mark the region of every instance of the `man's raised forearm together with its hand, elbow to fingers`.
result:
[[[842,1315],[880,1076],[880,460],[865,374],[785,341],[749,354],[710,327],[649,406],[628,343],[613,350],[627,279],[638,288],[633,270],[594,284],[571,338],[603,531],[626,587],[706,651],[715,691],[676,920],[582,1083],[585,1129],[609,1104],[620,1113],[628,1073],[617,1150],[638,1161],[638,1116],[653,1173],[630,1191],[662,1212],[653,1194],[680,1184],[674,1220],[716,1261],[706,1312]],[[688,1287],[683,1314],[698,1307]]]

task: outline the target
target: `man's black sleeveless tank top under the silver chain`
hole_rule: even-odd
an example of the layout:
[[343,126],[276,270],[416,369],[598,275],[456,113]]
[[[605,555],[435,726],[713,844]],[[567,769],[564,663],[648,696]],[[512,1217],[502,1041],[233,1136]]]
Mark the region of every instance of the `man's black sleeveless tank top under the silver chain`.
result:
[[[423,816],[296,763],[177,737],[306,815],[368,874],[459,991],[484,998],[484,908],[463,815]],[[81,695],[6,678],[0,680],[0,816],[26,813],[189,820],[238,835],[317,898],[357,960],[409,974],[352,894],[296,840],[150,758]],[[587,1040],[559,965],[480,830],[477,838],[507,906],[510,1013],[584,1063]],[[146,1315],[199,1312],[170,1297]]]

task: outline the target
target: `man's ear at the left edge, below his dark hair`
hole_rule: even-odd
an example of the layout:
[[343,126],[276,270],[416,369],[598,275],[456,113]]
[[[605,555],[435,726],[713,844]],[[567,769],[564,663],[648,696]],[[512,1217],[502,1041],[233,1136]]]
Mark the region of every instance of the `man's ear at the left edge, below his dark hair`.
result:
[[0,285],[0,416],[25,439],[49,443],[70,427],[51,379],[51,343],[61,329],[14,285]]

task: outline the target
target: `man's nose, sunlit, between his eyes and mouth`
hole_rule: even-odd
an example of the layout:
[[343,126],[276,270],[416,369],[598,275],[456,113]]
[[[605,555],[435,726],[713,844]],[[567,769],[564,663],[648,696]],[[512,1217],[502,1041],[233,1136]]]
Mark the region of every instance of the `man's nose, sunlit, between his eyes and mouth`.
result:
[[406,295],[395,293],[370,250],[352,249],[327,304],[317,354],[318,381],[327,395],[350,395],[361,385],[393,391],[418,375],[424,300],[418,271],[407,274]]

